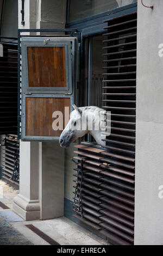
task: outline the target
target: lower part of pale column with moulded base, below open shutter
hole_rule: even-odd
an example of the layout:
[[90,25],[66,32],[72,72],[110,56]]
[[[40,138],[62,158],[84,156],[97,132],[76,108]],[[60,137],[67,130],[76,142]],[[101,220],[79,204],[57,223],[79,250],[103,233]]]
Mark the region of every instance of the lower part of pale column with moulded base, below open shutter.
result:
[[26,221],[40,218],[37,142],[20,142],[20,193],[14,198],[13,210]]

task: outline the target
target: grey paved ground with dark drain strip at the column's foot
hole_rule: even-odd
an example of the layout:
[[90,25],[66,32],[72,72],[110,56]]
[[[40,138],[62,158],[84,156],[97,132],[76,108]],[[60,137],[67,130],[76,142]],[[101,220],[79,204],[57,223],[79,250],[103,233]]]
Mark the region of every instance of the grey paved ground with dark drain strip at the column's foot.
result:
[[0,245],[108,245],[66,217],[24,221],[12,211],[18,191],[0,180]]

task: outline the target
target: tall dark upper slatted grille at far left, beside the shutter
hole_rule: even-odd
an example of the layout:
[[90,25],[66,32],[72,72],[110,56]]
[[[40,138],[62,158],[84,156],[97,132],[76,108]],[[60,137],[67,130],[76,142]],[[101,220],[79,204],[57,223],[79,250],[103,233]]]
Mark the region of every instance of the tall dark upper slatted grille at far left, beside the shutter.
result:
[[0,135],[17,134],[17,41],[1,39]]

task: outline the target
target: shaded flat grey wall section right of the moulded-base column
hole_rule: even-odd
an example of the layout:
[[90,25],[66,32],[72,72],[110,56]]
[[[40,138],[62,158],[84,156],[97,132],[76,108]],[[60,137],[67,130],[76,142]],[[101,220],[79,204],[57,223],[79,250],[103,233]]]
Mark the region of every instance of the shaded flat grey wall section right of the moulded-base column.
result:
[[59,142],[39,143],[41,220],[64,215],[64,151]]

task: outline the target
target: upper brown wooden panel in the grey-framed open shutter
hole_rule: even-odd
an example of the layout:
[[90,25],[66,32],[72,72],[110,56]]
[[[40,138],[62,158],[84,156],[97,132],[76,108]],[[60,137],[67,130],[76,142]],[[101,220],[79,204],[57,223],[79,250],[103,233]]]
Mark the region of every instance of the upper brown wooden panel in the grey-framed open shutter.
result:
[[65,47],[27,47],[29,87],[66,87]]

